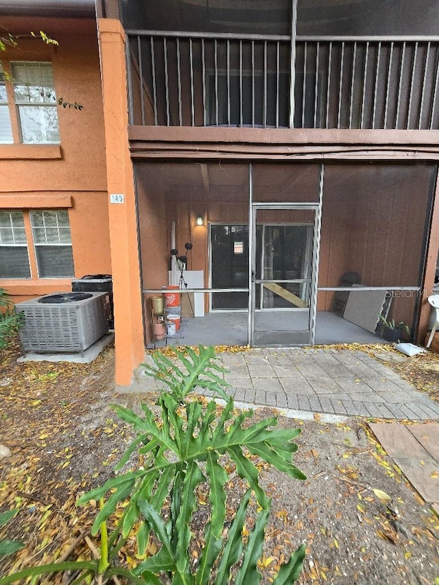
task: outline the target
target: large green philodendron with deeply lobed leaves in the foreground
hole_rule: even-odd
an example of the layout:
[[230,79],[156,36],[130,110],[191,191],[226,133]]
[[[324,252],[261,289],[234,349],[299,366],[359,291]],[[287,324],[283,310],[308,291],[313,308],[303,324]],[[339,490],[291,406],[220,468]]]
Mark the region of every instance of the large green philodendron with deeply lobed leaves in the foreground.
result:
[[[132,409],[112,406],[137,433],[117,469],[130,461],[134,451],[141,455],[143,464],[109,479],[104,486],[84,494],[78,501],[81,504],[102,499],[111,492],[92,528],[92,534],[100,531],[101,558],[94,562],[93,567],[93,561],[87,566],[82,562],[82,568],[77,566],[82,572],[75,583],[89,579],[92,574],[102,575],[101,582],[112,575],[120,575],[128,582],[152,585],[226,585],[230,582],[253,585],[261,580],[257,567],[262,556],[270,499],[259,485],[259,470],[249,455],[259,457],[290,477],[305,479],[305,475],[292,464],[292,454],[297,450],[292,440],[300,430],[270,428],[276,425],[275,417],[252,422],[251,411],[237,415],[233,398],[225,392],[228,387],[223,378],[225,370],[215,362],[212,347],[200,346],[198,353],[187,348],[186,355],[177,352],[177,357],[180,367],[162,353],[152,354],[154,366],[144,364],[145,373],[161,380],[169,389],[158,399],[160,416],[154,416],[144,404],[141,405],[141,416]],[[198,388],[200,392],[211,390],[225,401],[219,415],[214,400],[203,406],[193,397],[188,398],[188,394]],[[230,464],[230,460],[239,476],[248,483],[248,490],[233,521],[228,523],[225,486],[229,478],[224,465]],[[209,484],[210,517],[204,527],[204,546],[193,566],[191,522],[198,508],[196,490],[200,483]],[[243,529],[252,492],[260,511],[247,537]],[[107,536],[106,521],[117,505],[126,499],[128,505],[117,529]],[[162,513],[164,506],[167,514]],[[137,534],[140,557],[145,556],[152,534],[161,547],[136,569],[128,571],[115,566],[114,560],[133,530]],[[274,585],[294,583],[302,571],[304,556],[305,547],[302,545],[281,566]],[[60,570],[54,569],[56,564],[50,567],[51,570]],[[5,577],[0,584],[47,572],[42,569],[25,569]]]

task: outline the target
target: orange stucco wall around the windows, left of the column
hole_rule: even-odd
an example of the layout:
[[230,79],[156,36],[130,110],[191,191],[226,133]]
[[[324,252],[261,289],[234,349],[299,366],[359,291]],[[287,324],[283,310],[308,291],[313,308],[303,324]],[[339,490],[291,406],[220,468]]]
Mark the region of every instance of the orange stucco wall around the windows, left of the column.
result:
[[[20,40],[0,55],[14,60],[50,61],[57,97],[82,104],[82,111],[58,107],[60,145],[0,145],[0,209],[68,208],[75,276],[110,273],[104,112],[94,20],[2,17],[14,34],[44,30],[59,45]],[[28,230],[28,241],[29,241]],[[42,278],[31,259],[32,278],[0,279],[19,302],[71,289],[71,280]]]

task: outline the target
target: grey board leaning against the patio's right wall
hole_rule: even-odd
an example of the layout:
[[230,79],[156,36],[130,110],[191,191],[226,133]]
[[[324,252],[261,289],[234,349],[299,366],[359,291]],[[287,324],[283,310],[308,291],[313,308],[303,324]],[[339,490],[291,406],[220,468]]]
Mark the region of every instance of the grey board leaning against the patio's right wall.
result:
[[361,291],[361,287],[355,286],[355,292],[349,293],[343,318],[366,331],[375,333],[379,316],[385,303],[387,291]]

